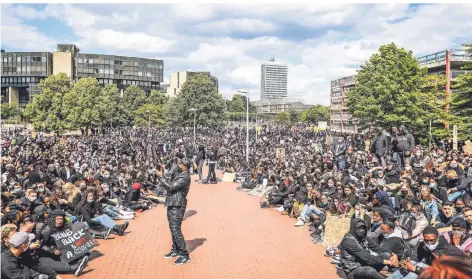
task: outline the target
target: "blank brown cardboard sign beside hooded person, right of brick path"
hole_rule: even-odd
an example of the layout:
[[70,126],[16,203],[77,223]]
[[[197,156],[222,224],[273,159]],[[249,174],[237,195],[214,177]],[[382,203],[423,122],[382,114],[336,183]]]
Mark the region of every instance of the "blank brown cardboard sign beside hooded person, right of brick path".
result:
[[341,243],[344,235],[349,232],[351,218],[327,214],[325,221],[324,247],[336,247]]

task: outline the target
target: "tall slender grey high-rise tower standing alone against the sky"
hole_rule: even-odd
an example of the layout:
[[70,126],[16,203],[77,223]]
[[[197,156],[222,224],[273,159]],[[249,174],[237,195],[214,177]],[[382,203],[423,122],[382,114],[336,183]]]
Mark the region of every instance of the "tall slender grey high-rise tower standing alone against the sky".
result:
[[287,98],[287,74],[286,64],[269,62],[261,66],[261,100]]

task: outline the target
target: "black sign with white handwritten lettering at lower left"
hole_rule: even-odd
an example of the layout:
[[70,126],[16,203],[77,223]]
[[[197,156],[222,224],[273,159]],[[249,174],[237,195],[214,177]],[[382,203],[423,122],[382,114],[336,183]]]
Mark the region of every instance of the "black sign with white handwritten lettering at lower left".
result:
[[71,262],[96,246],[93,237],[80,223],[72,225],[71,229],[52,234],[51,237],[54,238],[57,249],[61,251],[63,262]]

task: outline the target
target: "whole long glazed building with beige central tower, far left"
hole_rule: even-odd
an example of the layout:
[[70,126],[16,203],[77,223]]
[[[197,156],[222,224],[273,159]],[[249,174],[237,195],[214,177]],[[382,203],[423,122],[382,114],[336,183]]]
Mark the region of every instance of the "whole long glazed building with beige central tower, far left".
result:
[[162,60],[80,53],[71,44],[58,44],[54,53],[1,54],[2,101],[16,103],[20,110],[39,93],[39,82],[52,74],[65,73],[74,81],[94,77],[102,85],[116,84],[121,92],[136,85],[147,93],[159,90],[164,77]]

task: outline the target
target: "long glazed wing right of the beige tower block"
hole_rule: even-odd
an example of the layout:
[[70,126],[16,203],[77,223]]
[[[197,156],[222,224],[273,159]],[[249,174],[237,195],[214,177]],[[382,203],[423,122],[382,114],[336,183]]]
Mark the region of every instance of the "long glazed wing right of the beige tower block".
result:
[[78,79],[94,77],[100,84],[119,88],[136,85],[147,91],[159,90],[164,78],[162,60],[79,53],[75,61]]

